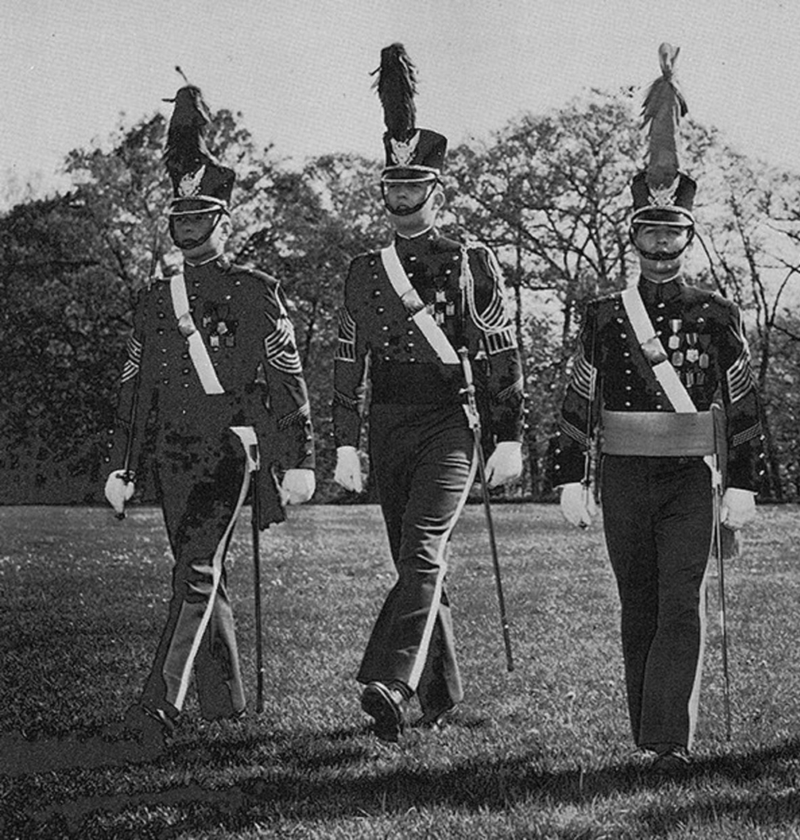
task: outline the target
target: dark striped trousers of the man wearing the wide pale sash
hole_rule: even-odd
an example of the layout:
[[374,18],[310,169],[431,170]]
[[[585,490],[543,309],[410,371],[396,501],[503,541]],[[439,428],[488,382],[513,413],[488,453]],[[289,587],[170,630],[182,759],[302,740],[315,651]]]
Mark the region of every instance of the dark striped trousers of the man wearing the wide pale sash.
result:
[[710,472],[701,458],[605,456],[602,501],[634,740],[690,747],[705,640]]

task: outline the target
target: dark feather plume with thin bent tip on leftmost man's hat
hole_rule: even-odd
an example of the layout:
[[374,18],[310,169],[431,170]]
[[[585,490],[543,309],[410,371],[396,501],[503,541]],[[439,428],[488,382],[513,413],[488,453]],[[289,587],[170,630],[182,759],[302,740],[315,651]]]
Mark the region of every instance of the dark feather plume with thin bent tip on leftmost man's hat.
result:
[[189,84],[180,67],[175,68],[183,76],[186,85],[176,94],[175,108],[167,130],[167,147],[164,163],[174,178],[196,172],[204,163],[218,164],[219,161],[208,148],[205,132],[211,122],[211,111],[203,99],[200,88]]

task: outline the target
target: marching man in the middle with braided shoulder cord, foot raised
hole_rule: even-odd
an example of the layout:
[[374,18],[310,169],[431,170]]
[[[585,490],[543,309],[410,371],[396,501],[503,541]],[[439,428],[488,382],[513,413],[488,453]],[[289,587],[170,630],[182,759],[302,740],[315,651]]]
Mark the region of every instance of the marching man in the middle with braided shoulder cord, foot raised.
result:
[[394,240],[356,257],[345,283],[335,356],[334,479],[360,492],[358,454],[371,385],[369,453],[397,581],[357,674],[376,735],[395,741],[406,704],[434,726],[462,699],[445,549],[476,471],[457,349],[466,347],[490,406],[496,447],[488,485],[522,470],[522,377],[494,256],[436,229],[447,140],[415,127],[415,68],[401,44],[381,53],[381,190]]

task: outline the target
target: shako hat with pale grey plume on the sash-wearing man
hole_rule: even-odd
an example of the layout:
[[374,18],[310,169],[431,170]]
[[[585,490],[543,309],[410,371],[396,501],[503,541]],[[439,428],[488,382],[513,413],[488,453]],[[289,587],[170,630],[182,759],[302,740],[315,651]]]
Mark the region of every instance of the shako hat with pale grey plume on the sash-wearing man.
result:
[[679,170],[678,125],[687,112],[686,100],[675,79],[679,47],[663,43],[658,48],[661,75],[650,85],[642,107],[643,127],[648,129],[645,168],[631,182],[631,225],[694,227],[697,184]]

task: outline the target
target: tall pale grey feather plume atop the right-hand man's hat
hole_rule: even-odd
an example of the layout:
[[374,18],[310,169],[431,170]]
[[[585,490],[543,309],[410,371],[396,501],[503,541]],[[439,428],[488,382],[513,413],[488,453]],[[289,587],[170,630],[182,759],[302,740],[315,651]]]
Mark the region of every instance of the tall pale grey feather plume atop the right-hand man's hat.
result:
[[663,43],[658,48],[661,76],[647,91],[642,124],[649,128],[647,184],[651,190],[666,189],[678,175],[678,125],[686,115],[686,100],[675,79],[675,61],[680,47]]

